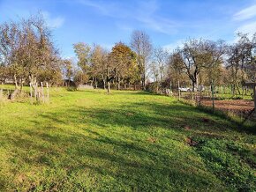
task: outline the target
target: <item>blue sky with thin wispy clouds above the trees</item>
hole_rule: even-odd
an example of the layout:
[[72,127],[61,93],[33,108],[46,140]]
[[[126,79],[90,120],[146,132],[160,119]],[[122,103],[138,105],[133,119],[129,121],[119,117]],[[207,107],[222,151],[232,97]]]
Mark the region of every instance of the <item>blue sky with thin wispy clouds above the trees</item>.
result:
[[176,48],[188,38],[233,42],[256,32],[256,0],[0,0],[0,22],[43,13],[64,57],[83,41],[111,48],[146,31],[155,46]]

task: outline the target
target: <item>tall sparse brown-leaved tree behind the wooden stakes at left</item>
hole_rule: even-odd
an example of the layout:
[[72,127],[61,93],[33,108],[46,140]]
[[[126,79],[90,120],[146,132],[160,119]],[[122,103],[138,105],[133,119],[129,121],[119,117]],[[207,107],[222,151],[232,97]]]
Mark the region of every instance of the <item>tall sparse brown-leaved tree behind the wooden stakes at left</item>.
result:
[[[44,71],[52,71],[51,76],[60,76],[60,58],[58,50],[51,41],[51,32],[41,13],[29,19],[23,19],[19,61],[28,72],[30,84],[37,85]],[[49,78],[49,77],[48,77]]]

